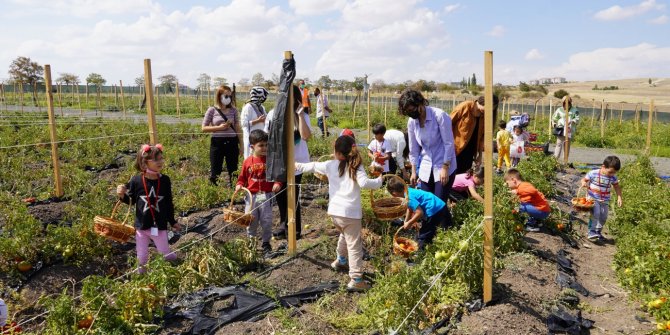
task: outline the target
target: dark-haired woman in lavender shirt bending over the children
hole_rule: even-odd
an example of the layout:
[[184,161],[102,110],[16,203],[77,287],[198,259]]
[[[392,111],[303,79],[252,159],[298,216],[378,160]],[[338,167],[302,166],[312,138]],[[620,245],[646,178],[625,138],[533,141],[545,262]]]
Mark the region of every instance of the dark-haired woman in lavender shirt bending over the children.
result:
[[[454,135],[449,114],[428,106],[428,100],[421,92],[412,89],[402,93],[398,108],[402,115],[410,118],[407,120],[409,160],[412,165],[410,182],[415,184],[418,177],[422,190],[431,192],[446,202],[456,171]],[[451,214],[447,210],[443,225],[451,224]],[[420,235],[423,233],[419,232]]]

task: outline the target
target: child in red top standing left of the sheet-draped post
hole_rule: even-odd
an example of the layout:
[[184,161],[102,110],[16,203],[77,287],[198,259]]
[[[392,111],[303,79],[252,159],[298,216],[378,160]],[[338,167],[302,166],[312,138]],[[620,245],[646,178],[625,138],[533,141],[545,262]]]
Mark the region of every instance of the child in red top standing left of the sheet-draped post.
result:
[[247,228],[249,237],[255,238],[258,225],[261,226],[261,241],[263,253],[272,252],[270,239],[272,239],[272,199],[273,193],[281,189],[280,182],[269,182],[265,180],[265,159],[268,151],[268,134],[262,130],[252,130],[249,134],[249,143],[252,153],[242,163],[242,171],[237,178],[235,190],[246,187],[251,192],[252,199],[245,199],[247,209],[251,208],[254,216],[253,221]]

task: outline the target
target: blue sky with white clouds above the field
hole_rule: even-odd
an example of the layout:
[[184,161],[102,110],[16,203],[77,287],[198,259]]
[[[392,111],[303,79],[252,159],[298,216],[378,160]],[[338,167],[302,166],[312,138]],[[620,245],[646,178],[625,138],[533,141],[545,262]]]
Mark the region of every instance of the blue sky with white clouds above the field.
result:
[[[668,0],[0,0],[0,68],[17,56],[85,78],[154,77],[193,85],[278,74],[284,50],[299,77],[403,82],[670,77]],[[6,70],[0,79],[7,79]]]

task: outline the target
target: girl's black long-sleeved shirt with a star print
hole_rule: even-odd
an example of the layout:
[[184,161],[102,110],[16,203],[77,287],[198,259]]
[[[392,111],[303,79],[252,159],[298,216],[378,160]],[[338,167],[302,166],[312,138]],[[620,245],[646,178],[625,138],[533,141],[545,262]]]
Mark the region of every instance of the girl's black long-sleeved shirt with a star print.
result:
[[[145,230],[154,226],[154,218],[149,206],[153,207],[156,216],[158,230],[167,230],[167,224],[174,225],[174,204],[172,203],[172,183],[166,175],[160,175],[160,194],[158,180],[145,178],[147,190],[142,183],[142,175],[130,178],[126,187],[128,193],[123,197],[123,202],[135,205],[135,229]],[[148,196],[147,196],[148,191]]]

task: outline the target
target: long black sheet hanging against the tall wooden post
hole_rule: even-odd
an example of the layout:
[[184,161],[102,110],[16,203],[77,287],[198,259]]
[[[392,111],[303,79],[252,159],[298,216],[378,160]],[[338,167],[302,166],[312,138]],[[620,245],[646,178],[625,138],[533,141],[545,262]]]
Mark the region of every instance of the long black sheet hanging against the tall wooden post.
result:
[[287,143],[284,136],[285,115],[288,110],[288,97],[293,94],[293,79],[295,78],[295,59],[284,59],[279,76],[279,92],[277,105],[270,120],[270,139],[268,141],[268,155],[266,161],[266,178],[271,181],[286,182],[286,154]]

